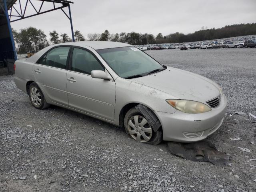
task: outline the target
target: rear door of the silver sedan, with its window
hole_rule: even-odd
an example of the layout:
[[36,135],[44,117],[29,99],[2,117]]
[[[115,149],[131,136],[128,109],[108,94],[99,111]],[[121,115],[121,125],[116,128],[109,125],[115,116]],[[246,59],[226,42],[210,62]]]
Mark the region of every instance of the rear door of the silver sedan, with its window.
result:
[[70,46],[57,46],[46,52],[33,65],[40,88],[55,103],[68,106],[66,75]]

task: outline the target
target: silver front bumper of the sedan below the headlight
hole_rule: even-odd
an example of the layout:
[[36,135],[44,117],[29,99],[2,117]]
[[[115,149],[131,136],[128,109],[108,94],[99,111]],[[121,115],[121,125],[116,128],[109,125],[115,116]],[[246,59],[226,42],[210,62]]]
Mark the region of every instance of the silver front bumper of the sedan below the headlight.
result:
[[163,140],[196,142],[203,140],[220,128],[227,110],[227,98],[221,97],[220,105],[200,114],[176,111],[173,114],[155,112],[163,130]]

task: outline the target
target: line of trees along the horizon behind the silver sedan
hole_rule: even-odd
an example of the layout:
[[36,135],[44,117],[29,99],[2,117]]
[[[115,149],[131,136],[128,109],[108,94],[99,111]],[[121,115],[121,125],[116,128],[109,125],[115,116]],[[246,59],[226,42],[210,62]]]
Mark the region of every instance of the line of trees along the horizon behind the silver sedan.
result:
[[[44,31],[34,27],[20,29],[19,32],[12,29],[12,33],[14,36],[15,43],[18,47],[18,53],[38,51],[46,46],[49,46],[50,44],[72,41],[72,39],[66,33],[59,34],[56,30],[53,30],[52,32],[49,32],[49,42],[46,39],[46,34],[44,33]],[[74,37],[76,41],[100,40],[124,42],[132,45],[142,45],[155,43],[195,42],[253,34],[256,34],[256,23],[227,25],[225,27],[217,29],[208,29],[207,27],[202,27],[201,30],[189,34],[176,32],[163,36],[162,33],[158,33],[156,37],[153,34],[141,34],[137,32],[121,32],[110,34],[108,30],[105,30],[101,34],[90,33],[87,35],[87,39],[85,39],[82,33],[79,30],[76,30],[74,32]]]

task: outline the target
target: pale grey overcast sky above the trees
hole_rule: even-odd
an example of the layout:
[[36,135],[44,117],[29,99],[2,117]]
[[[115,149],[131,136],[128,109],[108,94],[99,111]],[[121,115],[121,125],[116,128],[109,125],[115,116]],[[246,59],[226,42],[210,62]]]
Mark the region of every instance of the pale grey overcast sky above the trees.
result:
[[[21,0],[25,2],[25,0]],[[35,2],[39,9],[40,1]],[[71,13],[74,30],[88,33],[161,32],[167,35],[174,32],[188,34],[200,30],[202,26],[220,28],[225,25],[256,22],[256,0],[71,0]],[[18,6],[18,5],[16,5]],[[24,6],[24,5],[22,5]],[[42,11],[52,8],[43,5]],[[65,8],[68,13],[68,8]],[[26,15],[34,13],[28,4]],[[19,30],[34,26],[59,34],[71,36],[70,22],[61,10],[12,22]]]

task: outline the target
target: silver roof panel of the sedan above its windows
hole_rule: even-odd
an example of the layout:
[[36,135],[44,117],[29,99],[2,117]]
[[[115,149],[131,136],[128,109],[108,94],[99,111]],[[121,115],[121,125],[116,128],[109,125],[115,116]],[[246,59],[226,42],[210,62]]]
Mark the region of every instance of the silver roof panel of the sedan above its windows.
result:
[[95,50],[132,46],[126,43],[113,42],[113,41],[76,41],[76,42],[55,44],[55,46],[58,46],[58,45],[72,45],[72,46],[80,46],[80,47],[89,46]]

